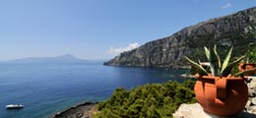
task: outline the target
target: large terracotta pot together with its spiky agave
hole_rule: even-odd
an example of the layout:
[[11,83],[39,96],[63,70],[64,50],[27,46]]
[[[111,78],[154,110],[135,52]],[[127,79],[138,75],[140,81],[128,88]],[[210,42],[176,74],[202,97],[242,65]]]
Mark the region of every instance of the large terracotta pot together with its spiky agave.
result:
[[[243,110],[248,100],[248,88],[244,84],[244,78],[238,74],[231,74],[231,70],[243,57],[229,62],[232,48],[228,51],[222,62],[214,48],[206,48],[205,53],[210,63],[210,70],[206,70],[202,65],[196,63],[185,56],[185,59],[195,69],[197,82],[194,90],[196,98],[206,112],[218,116],[231,116]],[[222,64],[223,63],[223,64]],[[238,77],[237,77],[238,76]]]

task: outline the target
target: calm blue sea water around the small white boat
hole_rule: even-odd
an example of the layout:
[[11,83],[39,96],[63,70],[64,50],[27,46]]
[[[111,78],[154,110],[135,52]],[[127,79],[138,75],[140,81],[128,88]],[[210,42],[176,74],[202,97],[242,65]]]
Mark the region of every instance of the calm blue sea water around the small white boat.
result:
[[[101,101],[114,89],[176,80],[187,70],[102,66],[102,63],[0,64],[0,118],[48,118],[84,101]],[[6,104],[25,108],[7,110]]]

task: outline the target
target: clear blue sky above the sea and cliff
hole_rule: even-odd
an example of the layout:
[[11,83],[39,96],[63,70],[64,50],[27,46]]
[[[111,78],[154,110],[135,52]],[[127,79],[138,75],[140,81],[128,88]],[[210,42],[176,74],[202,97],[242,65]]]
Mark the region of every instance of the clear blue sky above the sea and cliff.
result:
[[67,53],[109,59],[253,6],[256,0],[1,0],[0,60]]

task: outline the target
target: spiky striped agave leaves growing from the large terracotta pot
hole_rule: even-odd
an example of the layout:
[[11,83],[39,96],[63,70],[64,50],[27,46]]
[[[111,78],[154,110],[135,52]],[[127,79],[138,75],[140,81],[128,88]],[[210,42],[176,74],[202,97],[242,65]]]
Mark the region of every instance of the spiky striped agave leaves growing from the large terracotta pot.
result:
[[[233,62],[229,63],[231,52],[232,52],[232,47],[229,49],[228,53],[226,54],[222,64],[220,56],[217,52],[216,45],[214,46],[214,48],[209,48],[209,49],[205,47],[206,57],[210,63],[210,71],[211,71],[210,73],[213,76],[218,76],[218,77],[228,76],[231,73],[232,68],[236,66],[244,58],[242,56],[234,60]],[[187,56],[185,56],[185,59],[191,64],[192,68],[194,68],[199,75],[207,76],[209,74],[209,72],[205,68],[203,68],[203,66],[200,65],[199,63],[192,61]]]

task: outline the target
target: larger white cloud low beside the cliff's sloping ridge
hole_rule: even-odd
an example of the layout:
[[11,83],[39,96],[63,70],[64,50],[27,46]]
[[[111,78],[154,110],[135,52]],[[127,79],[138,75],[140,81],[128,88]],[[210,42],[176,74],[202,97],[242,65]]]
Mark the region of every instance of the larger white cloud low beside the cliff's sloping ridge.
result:
[[118,48],[114,48],[114,47],[110,47],[109,50],[107,51],[108,54],[119,54],[122,53],[124,51],[129,51],[132,49],[135,49],[137,47],[139,47],[139,43],[135,42],[135,43],[130,43],[127,47],[118,47]]

